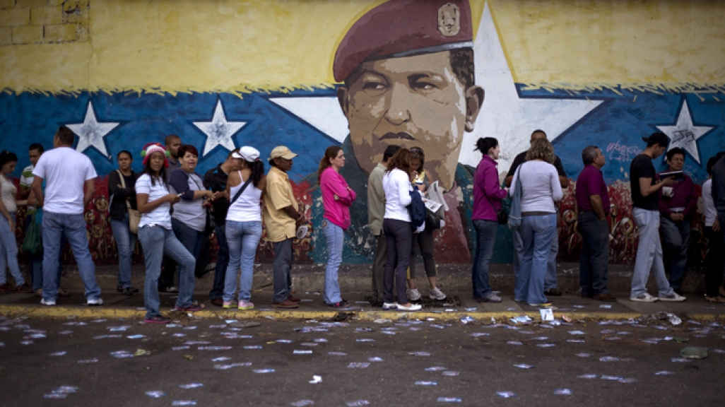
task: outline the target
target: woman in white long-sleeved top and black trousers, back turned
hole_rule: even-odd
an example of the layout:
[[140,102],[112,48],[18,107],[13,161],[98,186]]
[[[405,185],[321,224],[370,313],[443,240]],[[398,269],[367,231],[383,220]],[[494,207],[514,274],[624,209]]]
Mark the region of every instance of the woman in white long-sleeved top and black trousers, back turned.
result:
[[[383,176],[385,191],[385,215],[383,232],[387,242],[388,258],[385,262],[383,309],[400,311],[418,311],[421,305],[408,301],[406,288],[407,268],[410,265],[410,248],[413,245],[413,226],[407,207],[413,200],[413,155],[409,149],[399,149],[388,161],[388,169]],[[418,193],[418,192],[416,192]],[[397,301],[393,297],[393,280],[397,291]]]

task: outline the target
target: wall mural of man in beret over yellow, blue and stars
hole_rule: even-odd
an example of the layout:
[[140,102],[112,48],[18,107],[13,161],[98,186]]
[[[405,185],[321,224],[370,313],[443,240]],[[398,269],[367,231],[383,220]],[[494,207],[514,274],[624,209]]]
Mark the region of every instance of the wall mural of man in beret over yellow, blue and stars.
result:
[[[74,131],[75,149],[101,176],[86,213],[99,264],[116,261],[105,224],[104,175],[115,170],[123,149],[136,154],[133,168],[140,170],[141,147],[171,133],[199,149],[202,174],[243,145],[262,157],[278,145],[299,153],[290,175],[310,235],[295,245],[298,263],[327,258],[316,227],[323,209],[315,171],[331,144],[344,148],[343,175],[359,197],[351,207],[345,263],[372,261],[367,177],[388,144],[423,147],[426,170],[447,189],[451,209],[435,234],[439,263],[471,262],[479,137],[500,141],[503,173],[528,148],[534,129],[547,132],[572,180],[560,219],[559,258],[566,261],[578,260],[581,244],[573,192],[584,147],[597,145],[607,158],[602,172],[613,201],[612,263],[632,263],[637,248],[629,163],[645,147],[641,137],[663,131],[671,147],[685,149],[685,172],[696,184],[707,178],[709,157],[725,150],[725,5],[716,2],[81,3],[85,17],[78,24],[88,41],[0,41],[0,149],[21,157],[19,176],[30,143],[50,148],[58,126]],[[12,21],[17,9],[0,14],[7,17],[2,24],[30,24]],[[320,16],[333,15],[319,23]],[[465,62],[451,57],[450,46],[405,54],[406,47],[416,48],[405,35],[424,28],[392,21],[420,22],[442,41],[452,38],[448,43],[471,49],[475,85],[459,75]],[[464,38],[467,30],[471,38]],[[341,61],[369,52],[365,41],[378,41],[373,33],[388,57],[363,58],[347,69]],[[343,59],[339,53],[346,49],[355,52]],[[697,262],[706,253],[697,234],[701,223],[693,222],[693,229]],[[494,250],[494,263],[510,263],[505,227]],[[272,259],[265,239],[258,258]]]

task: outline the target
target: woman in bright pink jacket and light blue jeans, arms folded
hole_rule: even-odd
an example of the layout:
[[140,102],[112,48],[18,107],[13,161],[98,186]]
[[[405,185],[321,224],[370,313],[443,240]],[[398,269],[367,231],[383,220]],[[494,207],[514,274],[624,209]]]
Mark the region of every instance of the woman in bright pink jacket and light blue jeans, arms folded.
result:
[[325,207],[322,229],[327,237],[328,261],[325,271],[325,305],[343,308],[349,304],[340,296],[340,284],[337,271],[342,263],[342,244],[344,231],[350,226],[350,205],[355,202],[355,191],[347,186],[345,178],[339,173],[345,165],[345,153],[341,147],[331,146],[325,150],[320,160],[318,182]]

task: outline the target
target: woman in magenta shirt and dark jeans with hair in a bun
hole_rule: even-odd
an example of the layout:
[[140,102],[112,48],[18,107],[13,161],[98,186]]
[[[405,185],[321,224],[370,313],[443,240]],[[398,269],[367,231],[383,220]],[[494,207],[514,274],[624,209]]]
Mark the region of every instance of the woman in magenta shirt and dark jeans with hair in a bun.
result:
[[508,194],[498,176],[498,140],[485,137],[476,141],[476,150],[484,156],[473,175],[473,227],[476,228],[476,256],[473,258],[473,297],[479,303],[500,303],[489,285],[489,262],[494,252],[498,230],[497,211]]

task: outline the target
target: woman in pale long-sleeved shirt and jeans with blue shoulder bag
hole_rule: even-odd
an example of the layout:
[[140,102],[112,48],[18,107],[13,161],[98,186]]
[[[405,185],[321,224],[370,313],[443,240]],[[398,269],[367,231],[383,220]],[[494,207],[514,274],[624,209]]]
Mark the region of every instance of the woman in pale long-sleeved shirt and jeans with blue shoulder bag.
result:
[[521,239],[523,256],[514,300],[532,306],[549,306],[544,296],[547,258],[556,235],[556,207],[563,197],[554,165],[554,147],[547,139],[531,141],[526,163],[513,175],[510,193],[521,182]]

